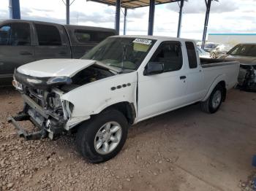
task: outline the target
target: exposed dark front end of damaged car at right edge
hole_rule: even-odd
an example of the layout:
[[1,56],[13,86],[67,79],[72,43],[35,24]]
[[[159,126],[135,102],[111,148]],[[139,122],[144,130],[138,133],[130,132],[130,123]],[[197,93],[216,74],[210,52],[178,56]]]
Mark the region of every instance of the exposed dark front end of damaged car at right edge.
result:
[[241,90],[256,91],[256,65],[240,65],[238,87],[240,87]]

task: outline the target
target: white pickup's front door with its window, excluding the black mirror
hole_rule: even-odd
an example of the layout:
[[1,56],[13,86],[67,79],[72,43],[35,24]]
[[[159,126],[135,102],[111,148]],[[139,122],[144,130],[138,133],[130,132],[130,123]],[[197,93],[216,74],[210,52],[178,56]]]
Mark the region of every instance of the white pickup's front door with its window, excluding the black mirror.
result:
[[181,42],[162,42],[149,62],[164,64],[163,73],[149,76],[139,74],[139,120],[176,109],[186,103],[184,96],[187,79],[182,52]]

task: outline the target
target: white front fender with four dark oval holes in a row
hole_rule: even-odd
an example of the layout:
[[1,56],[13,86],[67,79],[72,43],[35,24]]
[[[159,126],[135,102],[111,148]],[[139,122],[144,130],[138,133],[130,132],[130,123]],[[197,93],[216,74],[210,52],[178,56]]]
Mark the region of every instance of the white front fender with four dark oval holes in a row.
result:
[[[115,88],[113,88],[115,87]],[[88,119],[113,104],[136,103],[137,72],[117,74],[80,86],[61,96],[74,105],[72,118]],[[135,107],[137,104],[134,104]],[[135,108],[135,110],[137,110]]]

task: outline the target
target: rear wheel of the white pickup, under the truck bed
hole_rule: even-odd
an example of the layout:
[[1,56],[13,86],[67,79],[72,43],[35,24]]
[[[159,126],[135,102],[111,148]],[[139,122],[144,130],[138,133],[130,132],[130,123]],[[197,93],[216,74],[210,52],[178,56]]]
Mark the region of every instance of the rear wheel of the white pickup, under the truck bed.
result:
[[211,95],[206,101],[201,102],[201,110],[208,114],[213,114],[218,111],[223,101],[224,90],[222,85],[214,87]]

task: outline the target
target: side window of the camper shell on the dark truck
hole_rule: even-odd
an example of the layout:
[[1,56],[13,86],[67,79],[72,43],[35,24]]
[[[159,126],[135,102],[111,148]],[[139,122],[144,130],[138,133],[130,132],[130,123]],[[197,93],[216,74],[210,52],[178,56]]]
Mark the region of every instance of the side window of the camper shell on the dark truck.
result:
[[113,36],[115,34],[108,31],[87,31],[87,30],[75,30],[75,38],[78,42],[101,42],[102,40],[108,38],[108,36]]

